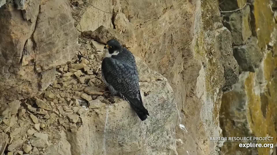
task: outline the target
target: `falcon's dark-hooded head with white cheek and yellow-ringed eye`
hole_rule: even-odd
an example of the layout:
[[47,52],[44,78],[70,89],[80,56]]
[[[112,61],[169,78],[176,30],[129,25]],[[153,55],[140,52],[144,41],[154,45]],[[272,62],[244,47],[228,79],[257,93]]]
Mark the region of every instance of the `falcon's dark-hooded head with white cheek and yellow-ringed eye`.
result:
[[107,42],[107,45],[104,47],[104,51],[105,51],[105,57],[112,57],[113,55],[117,55],[119,52],[121,52],[121,44],[115,40],[115,39],[111,39]]

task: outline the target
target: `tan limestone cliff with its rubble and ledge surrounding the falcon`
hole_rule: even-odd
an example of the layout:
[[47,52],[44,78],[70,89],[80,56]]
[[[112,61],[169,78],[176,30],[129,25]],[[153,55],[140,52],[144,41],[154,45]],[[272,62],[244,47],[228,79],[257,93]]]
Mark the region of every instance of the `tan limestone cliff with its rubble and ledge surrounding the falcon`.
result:
[[[8,152],[226,152],[209,137],[222,135],[222,95],[238,82],[239,66],[217,1],[7,1],[0,15],[9,17],[0,23],[0,145]],[[13,23],[23,33],[13,35]],[[83,32],[79,44],[76,29]],[[141,93],[151,113],[145,122],[127,102],[106,97],[101,43],[112,38],[140,57]]]

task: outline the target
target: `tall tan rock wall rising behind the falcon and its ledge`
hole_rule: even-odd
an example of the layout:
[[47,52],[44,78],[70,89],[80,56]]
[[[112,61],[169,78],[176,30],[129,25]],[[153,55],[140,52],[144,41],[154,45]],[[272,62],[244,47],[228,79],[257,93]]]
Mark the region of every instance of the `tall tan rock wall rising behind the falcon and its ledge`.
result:
[[[78,14],[75,25],[79,30],[97,28],[93,35],[102,36],[98,41],[105,42],[99,23],[115,28],[124,36],[121,42],[125,47],[168,79],[181,117],[175,128],[177,152],[218,154],[217,144],[210,143],[209,137],[221,134],[221,97],[238,81],[239,67],[232,53],[231,33],[222,26],[217,2],[88,2],[85,9],[74,12]],[[100,11],[95,7],[117,14],[102,11],[103,17],[111,20],[98,20]]]

